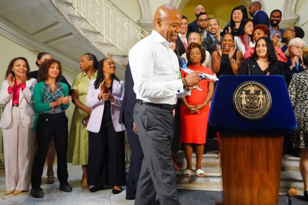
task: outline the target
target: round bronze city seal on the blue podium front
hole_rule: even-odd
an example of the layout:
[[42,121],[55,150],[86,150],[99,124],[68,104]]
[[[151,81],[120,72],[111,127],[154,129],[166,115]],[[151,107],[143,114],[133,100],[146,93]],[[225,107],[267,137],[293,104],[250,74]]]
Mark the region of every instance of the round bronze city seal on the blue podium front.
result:
[[233,106],[242,118],[260,120],[271,109],[272,97],[263,84],[257,81],[246,81],[235,89]]

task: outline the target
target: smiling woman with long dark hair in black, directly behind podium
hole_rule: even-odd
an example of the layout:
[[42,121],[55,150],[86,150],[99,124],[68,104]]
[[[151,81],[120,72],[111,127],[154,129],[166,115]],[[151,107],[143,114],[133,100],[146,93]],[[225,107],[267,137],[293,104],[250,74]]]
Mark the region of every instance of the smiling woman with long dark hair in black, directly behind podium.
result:
[[251,58],[243,61],[240,75],[281,75],[286,83],[290,82],[286,75],[287,65],[278,61],[271,39],[261,37],[256,42],[256,49]]

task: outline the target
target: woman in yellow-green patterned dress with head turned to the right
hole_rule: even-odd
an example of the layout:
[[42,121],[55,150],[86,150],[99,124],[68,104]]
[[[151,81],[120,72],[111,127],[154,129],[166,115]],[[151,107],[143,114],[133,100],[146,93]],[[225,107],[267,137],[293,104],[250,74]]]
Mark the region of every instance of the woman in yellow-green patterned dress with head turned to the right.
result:
[[88,189],[87,164],[88,164],[88,131],[86,129],[91,109],[86,106],[86,98],[90,80],[97,78],[98,60],[91,53],[83,54],[80,58],[82,72],[76,76],[72,87],[72,102],[75,105],[69,138],[67,162],[73,165],[82,165],[83,175],[81,180],[82,189]]

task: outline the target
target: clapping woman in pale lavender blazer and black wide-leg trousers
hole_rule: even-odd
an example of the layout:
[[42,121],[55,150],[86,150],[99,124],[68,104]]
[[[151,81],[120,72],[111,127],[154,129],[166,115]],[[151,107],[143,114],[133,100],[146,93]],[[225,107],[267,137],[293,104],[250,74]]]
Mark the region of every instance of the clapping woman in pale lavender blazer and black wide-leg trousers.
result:
[[90,81],[86,99],[92,113],[89,131],[88,184],[90,192],[114,185],[113,194],[121,193],[125,185],[125,126],[119,123],[124,82],[115,76],[111,59],[103,59],[98,66],[96,80]]

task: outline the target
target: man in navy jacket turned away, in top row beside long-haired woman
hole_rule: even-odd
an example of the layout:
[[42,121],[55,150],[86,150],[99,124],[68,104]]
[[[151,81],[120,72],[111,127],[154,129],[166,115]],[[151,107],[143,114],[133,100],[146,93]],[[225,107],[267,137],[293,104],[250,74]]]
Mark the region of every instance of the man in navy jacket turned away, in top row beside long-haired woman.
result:
[[259,24],[269,26],[269,18],[267,14],[261,10],[260,2],[253,2],[249,5],[248,13],[253,17],[254,26]]

